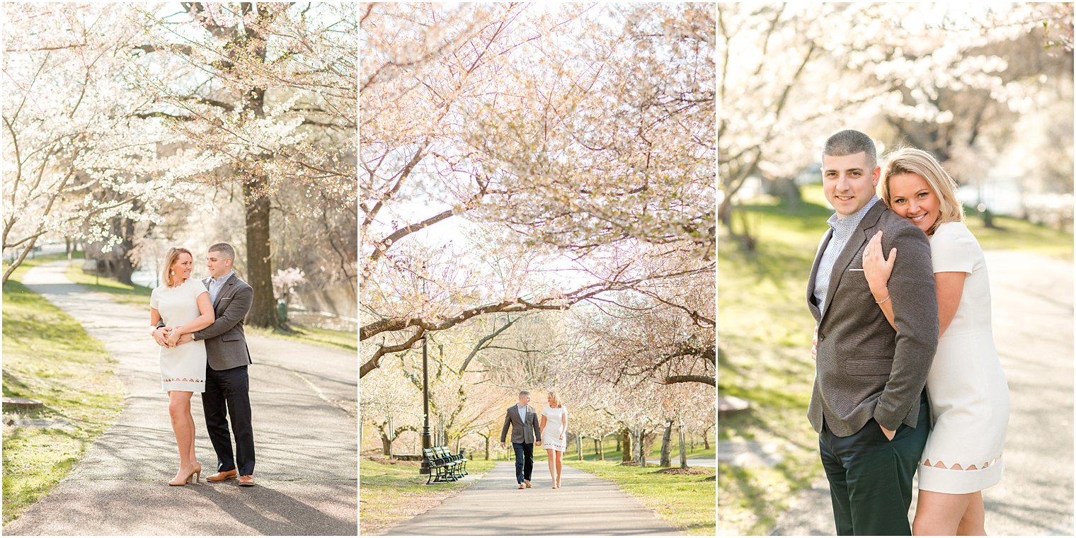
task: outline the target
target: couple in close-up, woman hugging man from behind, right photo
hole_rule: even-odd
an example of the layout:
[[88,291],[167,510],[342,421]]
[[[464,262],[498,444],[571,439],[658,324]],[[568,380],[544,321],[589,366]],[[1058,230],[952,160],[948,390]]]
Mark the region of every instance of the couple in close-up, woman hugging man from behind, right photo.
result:
[[877,166],[874,141],[856,130],[825,142],[822,183],[835,214],[807,284],[817,322],[808,415],[837,534],[983,535],[1009,393],[982,249],[957,184],[921,150]]

